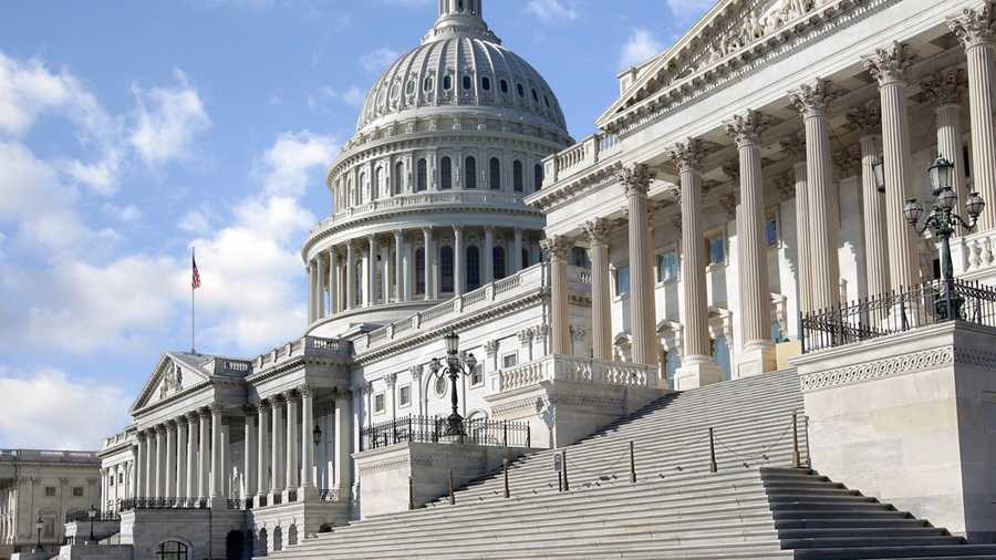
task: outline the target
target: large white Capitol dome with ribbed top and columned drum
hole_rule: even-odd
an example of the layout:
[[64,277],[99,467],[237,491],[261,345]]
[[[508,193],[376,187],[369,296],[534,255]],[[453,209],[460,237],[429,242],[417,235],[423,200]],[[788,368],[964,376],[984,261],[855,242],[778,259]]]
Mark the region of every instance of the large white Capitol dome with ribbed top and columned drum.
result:
[[488,28],[483,0],[438,3],[329,168],[332,215],[301,251],[309,334],[402,324],[540,261],[544,219],[522,200],[573,143],[560,103]]

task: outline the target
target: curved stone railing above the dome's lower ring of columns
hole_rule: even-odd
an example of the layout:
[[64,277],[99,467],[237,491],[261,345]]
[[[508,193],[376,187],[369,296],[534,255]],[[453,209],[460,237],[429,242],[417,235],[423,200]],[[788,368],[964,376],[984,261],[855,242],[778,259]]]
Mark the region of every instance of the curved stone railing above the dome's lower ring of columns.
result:
[[408,210],[421,207],[438,208],[439,205],[459,205],[459,206],[516,206],[522,204],[522,193],[494,193],[487,190],[437,190],[434,193],[418,193],[416,195],[400,195],[370,203],[355,205],[344,210],[340,210],[330,216],[311,230],[310,237],[324,231],[333,226],[353,220],[367,215],[382,214],[390,210]]

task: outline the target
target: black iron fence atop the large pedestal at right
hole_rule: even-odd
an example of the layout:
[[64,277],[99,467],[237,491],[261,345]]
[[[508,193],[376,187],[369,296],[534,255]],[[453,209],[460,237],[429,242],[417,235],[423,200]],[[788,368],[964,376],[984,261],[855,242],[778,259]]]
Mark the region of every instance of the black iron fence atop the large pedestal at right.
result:
[[800,342],[807,353],[953,320],[996,326],[996,289],[979,282],[935,280],[800,313]]

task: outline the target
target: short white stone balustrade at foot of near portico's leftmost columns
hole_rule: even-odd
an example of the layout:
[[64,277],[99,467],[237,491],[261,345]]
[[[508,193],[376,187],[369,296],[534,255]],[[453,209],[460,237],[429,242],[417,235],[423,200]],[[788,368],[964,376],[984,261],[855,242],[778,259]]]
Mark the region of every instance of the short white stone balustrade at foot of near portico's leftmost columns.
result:
[[629,362],[609,362],[569,355],[549,355],[499,373],[498,390],[512,391],[544,381],[573,381],[646,387],[655,370]]

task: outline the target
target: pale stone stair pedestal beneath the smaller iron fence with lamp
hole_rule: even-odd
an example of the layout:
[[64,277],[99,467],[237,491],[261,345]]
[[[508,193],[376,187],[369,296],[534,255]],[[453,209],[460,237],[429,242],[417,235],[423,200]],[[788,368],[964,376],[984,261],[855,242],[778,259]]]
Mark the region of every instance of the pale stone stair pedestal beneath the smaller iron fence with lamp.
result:
[[354,453],[360,471],[360,518],[408,509],[408,479],[416,508],[454,488],[496,470],[502,459],[513,460],[529,449],[478,445],[405,443]]

